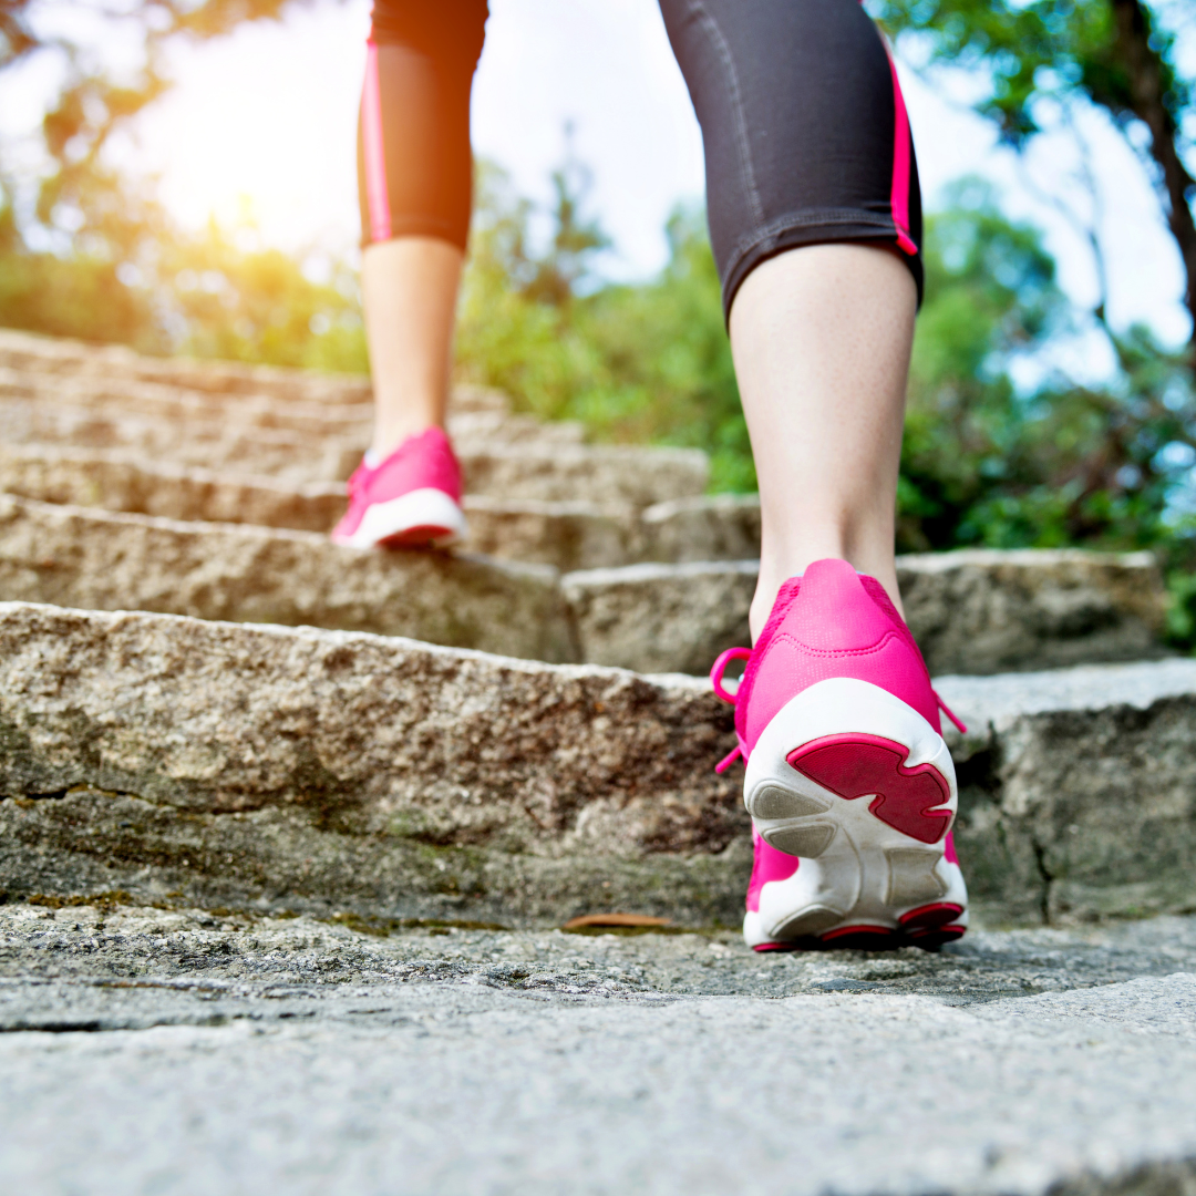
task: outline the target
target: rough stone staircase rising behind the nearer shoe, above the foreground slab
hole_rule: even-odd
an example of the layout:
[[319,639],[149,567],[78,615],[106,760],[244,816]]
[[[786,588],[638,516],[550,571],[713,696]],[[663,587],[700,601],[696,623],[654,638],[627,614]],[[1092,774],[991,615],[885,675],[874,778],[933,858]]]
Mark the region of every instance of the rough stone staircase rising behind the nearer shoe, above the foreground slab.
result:
[[[460,388],[465,549],[338,548],[368,397],[0,332],[0,892],[734,925],[748,819],[701,675],[748,640],[758,504]],[[1153,559],[899,572],[970,727],[981,921],[1196,909],[1196,661],[1160,647]]]

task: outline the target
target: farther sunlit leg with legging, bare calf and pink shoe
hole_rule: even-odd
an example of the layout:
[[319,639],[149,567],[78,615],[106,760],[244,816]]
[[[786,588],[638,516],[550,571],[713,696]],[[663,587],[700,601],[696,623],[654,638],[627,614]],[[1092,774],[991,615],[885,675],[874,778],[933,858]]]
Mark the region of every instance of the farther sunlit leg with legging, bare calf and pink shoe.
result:
[[465,531],[444,432],[469,236],[469,93],[486,0],[376,0],[358,136],[374,434],[332,539],[448,544]]

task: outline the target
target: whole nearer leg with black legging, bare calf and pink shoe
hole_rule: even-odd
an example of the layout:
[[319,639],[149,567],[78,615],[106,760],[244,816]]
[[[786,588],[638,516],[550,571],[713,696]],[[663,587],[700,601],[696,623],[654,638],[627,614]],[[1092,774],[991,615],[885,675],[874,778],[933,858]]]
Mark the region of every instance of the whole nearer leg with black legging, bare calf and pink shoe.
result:
[[[856,0],[660,0],[702,124],[710,240],[763,511],[736,704],[757,951],[935,947],[968,893],[939,702],[896,605],[921,288],[913,144]],[[746,657],[733,695],[721,671]]]

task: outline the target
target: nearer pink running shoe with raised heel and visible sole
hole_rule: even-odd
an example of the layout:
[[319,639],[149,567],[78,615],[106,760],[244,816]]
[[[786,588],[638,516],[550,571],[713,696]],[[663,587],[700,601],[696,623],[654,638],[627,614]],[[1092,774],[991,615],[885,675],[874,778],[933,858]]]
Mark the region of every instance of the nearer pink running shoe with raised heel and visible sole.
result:
[[[732,659],[748,667],[734,695]],[[744,938],[757,951],[932,950],[968,927],[951,841],[958,791],[914,636],[874,578],[816,561],[781,587],[755,649],[710,670],[736,706],[756,866]],[[864,799],[862,801],[860,799]]]

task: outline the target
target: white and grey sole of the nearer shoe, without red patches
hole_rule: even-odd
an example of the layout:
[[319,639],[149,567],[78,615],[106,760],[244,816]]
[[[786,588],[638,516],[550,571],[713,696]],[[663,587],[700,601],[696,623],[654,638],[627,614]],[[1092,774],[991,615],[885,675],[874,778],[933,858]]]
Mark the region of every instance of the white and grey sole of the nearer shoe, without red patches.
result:
[[[765,840],[785,831],[791,842],[812,844],[816,856],[800,855],[792,877],[762,887],[758,913],[749,911],[744,921],[750,946],[825,934],[842,926],[896,928],[903,915],[935,902],[963,907],[964,913],[952,922],[966,925],[968,890],[958,865],[946,860],[942,838],[922,843],[903,834],[877,818],[866,797],[846,800],[786,758],[811,740],[852,733],[901,744],[908,752],[903,762],[908,768],[935,768],[950,787],[950,798],[932,812],[954,819],[958,785],[951,752],[913,707],[878,685],[849,677],[803,690],[777,712],[752,749],[744,804]],[[787,803],[800,813],[762,817]]]

